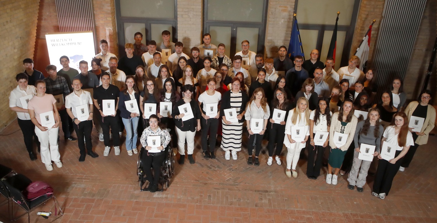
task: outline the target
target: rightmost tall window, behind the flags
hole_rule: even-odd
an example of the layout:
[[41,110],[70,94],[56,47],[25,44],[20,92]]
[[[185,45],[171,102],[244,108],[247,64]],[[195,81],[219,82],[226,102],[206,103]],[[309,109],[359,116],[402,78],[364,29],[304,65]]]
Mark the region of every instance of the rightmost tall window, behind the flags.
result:
[[[315,7],[322,6],[323,7]],[[305,59],[312,49],[319,50],[320,61],[325,62],[334,30],[336,12],[340,11],[337,29],[335,70],[347,66],[350,45],[354,36],[360,0],[296,0],[299,31]]]

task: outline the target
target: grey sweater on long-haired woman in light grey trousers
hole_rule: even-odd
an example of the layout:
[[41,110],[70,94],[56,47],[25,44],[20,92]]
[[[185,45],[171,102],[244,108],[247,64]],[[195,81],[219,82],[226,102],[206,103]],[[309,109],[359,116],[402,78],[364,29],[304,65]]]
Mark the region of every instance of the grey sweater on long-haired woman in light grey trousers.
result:
[[370,126],[367,135],[364,135],[361,133],[361,129],[363,129],[363,125],[365,121],[366,120],[363,120],[361,122],[358,122],[357,124],[357,129],[355,130],[355,136],[354,136],[355,148],[360,148],[361,143],[369,144],[372,146],[376,146],[375,151],[379,153],[381,151],[381,136],[382,133],[384,132],[384,127],[382,127],[382,125],[378,126],[379,127],[378,138],[375,138],[375,135],[373,134],[373,131],[375,131],[375,128],[377,127],[375,125]]

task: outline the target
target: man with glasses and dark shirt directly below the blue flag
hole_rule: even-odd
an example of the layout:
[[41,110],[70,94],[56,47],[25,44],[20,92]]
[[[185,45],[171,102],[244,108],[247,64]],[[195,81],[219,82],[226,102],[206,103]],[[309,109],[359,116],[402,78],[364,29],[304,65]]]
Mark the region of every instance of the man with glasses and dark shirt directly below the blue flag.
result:
[[296,96],[298,91],[301,90],[303,82],[309,77],[308,71],[302,68],[303,57],[295,56],[295,67],[291,68],[285,74],[285,79],[288,83],[288,89],[290,89],[293,97]]

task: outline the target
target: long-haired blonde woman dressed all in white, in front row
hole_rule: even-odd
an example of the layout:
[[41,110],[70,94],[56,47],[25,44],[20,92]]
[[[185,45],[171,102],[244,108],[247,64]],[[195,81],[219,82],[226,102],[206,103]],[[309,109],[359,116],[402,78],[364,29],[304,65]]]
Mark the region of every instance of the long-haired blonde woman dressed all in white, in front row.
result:
[[[310,79],[312,80],[312,79]],[[288,178],[297,178],[296,166],[299,161],[300,152],[305,148],[309,136],[309,104],[308,99],[300,97],[297,99],[297,107],[293,108],[285,124],[284,145],[287,147],[287,169],[285,175]]]

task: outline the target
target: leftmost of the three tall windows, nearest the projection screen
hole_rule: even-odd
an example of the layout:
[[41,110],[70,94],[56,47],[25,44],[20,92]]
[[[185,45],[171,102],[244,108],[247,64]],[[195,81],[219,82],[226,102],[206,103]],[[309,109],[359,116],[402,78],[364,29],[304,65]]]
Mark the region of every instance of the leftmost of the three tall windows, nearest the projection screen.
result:
[[176,0],[115,0],[118,49],[125,54],[125,43],[134,43],[135,32],[143,34],[142,43],[162,42],[161,33],[170,31],[170,39],[177,42]]

